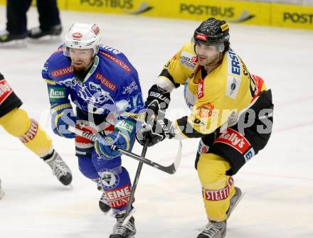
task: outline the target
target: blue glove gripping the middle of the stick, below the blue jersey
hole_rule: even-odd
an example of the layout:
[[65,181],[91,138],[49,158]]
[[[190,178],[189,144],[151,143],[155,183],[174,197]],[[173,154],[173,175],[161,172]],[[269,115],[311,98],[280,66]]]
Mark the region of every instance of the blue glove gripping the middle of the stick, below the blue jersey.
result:
[[111,148],[112,145],[122,148],[124,150],[129,150],[130,141],[129,136],[124,134],[122,131],[114,131],[111,134],[105,136],[101,134],[102,139],[95,142],[95,152],[98,156],[106,158],[115,158],[120,156],[120,152],[115,151]]

